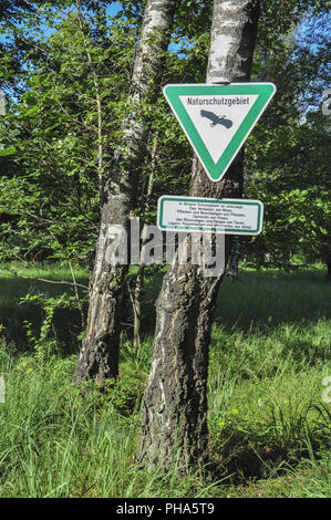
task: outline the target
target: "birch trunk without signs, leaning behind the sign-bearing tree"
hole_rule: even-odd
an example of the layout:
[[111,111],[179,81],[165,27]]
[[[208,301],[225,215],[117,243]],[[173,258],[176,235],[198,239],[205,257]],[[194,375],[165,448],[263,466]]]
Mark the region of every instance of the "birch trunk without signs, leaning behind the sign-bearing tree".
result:
[[130,231],[130,212],[146,146],[141,102],[147,97],[153,100],[157,93],[176,3],[177,0],[147,0],[146,3],[128,96],[131,110],[123,125],[123,152],[116,154],[112,171],[102,179],[101,228],[90,282],[87,326],[74,374],[76,384],[92,378],[102,384],[118,373],[127,266],[110,264],[112,237],[108,230],[115,225]]

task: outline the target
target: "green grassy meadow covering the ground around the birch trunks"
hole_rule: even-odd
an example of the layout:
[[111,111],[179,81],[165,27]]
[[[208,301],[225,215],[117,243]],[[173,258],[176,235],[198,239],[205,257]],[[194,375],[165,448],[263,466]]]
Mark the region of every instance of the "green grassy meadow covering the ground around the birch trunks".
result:
[[[214,478],[180,478],[176,464],[165,476],[147,472],[134,461],[163,273],[146,285],[141,349],[124,332],[118,381],[82,398],[72,382],[81,312],[66,305],[45,314],[40,299],[74,292],[38,280],[72,282],[70,270],[10,269],[0,267],[0,497],[331,496],[331,405],[323,398],[331,284],[323,269],[242,269],[237,282],[223,283],[208,382]],[[86,272],[75,277],[87,287]]]

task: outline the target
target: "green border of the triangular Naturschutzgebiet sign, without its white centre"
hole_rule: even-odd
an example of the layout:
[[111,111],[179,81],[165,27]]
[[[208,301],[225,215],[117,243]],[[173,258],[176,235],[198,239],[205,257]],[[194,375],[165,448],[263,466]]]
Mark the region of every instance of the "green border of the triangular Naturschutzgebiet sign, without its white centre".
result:
[[[276,93],[276,85],[273,83],[166,85],[163,92],[209,178],[217,181],[224,177],[245,141],[251,133],[254,126],[265,112],[267,105]],[[179,100],[180,95],[258,95],[258,98],[255,101],[252,107],[244,118],[241,125],[218,162],[215,163],[186,108]]]

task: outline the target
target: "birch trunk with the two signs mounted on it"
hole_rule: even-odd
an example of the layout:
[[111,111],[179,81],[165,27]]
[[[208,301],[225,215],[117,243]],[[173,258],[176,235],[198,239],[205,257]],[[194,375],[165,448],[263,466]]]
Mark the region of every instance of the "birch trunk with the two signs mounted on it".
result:
[[[255,0],[214,0],[207,83],[248,81],[259,18]],[[209,180],[195,157],[190,195],[238,198],[241,152],[226,176]],[[231,238],[225,241],[227,261]],[[156,302],[154,353],[143,403],[137,459],[168,471],[208,460],[207,375],[213,311],[223,275],[208,278],[193,264],[169,268]]]

